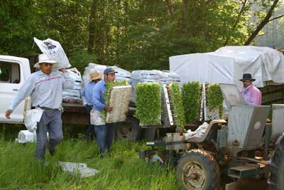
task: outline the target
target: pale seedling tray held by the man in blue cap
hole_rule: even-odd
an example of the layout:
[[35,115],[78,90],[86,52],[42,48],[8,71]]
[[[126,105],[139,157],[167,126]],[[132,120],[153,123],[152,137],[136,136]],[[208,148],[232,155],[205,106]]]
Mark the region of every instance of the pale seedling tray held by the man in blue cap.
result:
[[106,122],[124,122],[131,97],[131,85],[114,86],[111,90],[109,107],[112,111],[107,113]]

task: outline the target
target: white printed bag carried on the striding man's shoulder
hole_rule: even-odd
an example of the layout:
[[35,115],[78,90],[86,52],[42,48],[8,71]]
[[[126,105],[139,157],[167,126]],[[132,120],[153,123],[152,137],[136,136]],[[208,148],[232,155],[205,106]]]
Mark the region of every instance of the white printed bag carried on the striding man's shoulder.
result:
[[40,48],[40,51],[48,55],[48,58],[50,58],[50,60],[56,60],[58,62],[58,64],[54,68],[55,70],[71,67],[69,60],[58,41],[54,41],[50,38],[47,38],[44,41],[40,41],[35,37],[33,38],[33,40],[38,45],[38,48]]

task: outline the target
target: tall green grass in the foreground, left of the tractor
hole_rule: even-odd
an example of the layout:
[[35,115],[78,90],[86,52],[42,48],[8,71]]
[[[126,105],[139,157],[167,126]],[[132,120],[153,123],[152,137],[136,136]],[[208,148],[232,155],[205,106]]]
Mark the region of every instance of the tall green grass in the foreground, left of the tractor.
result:
[[[65,137],[55,157],[46,153],[48,167],[33,161],[35,143],[14,142],[17,133],[0,131],[0,189],[178,189],[175,170],[139,159],[143,142],[114,142],[104,159],[95,142]],[[55,166],[55,162],[81,162],[99,174],[81,179]]]

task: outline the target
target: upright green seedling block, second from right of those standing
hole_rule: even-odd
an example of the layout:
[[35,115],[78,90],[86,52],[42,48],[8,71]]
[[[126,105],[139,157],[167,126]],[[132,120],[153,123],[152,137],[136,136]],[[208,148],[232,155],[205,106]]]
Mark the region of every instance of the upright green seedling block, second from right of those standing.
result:
[[196,122],[200,112],[202,85],[198,82],[182,85],[182,104],[185,107],[186,122]]

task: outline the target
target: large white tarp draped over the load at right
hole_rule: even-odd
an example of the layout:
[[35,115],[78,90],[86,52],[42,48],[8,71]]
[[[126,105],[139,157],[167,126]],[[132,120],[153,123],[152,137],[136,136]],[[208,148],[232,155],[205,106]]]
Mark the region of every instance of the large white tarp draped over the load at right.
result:
[[180,75],[180,84],[227,83],[241,85],[244,73],[251,73],[256,87],[284,83],[283,53],[256,46],[226,46],[209,53],[192,53],[170,57],[170,70]]

